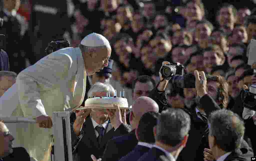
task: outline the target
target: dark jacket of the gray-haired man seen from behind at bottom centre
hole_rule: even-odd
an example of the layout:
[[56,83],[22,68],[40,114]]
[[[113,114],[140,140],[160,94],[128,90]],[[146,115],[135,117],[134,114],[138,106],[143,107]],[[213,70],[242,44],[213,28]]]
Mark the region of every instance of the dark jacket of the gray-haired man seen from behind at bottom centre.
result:
[[[147,153],[145,153],[144,155],[142,155],[140,157],[140,159],[138,159],[137,161],[155,161],[155,160],[161,160],[161,158],[159,158],[161,155],[165,155],[165,153],[163,151],[161,151],[160,149],[156,148],[156,147],[152,147]],[[166,156],[167,157],[167,156]],[[172,161],[172,160],[170,160]]]

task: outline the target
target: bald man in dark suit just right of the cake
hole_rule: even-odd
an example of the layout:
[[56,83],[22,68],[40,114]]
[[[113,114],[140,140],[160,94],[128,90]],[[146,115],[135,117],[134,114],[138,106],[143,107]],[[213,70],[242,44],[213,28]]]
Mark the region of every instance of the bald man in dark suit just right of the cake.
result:
[[149,111],[159,111],[158,105],[153,99],[142,96],[134,101],[130,112],[132,131],[129,134],[111,139],[106,145],[102,161],[117,161],[134,149],[138,144],[135,129],[138,127],[142,115]]

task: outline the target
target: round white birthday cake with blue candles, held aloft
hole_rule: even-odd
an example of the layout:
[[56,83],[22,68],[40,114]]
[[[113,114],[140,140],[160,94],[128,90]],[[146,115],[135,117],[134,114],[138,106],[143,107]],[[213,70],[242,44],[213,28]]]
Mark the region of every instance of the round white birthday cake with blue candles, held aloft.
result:
[[126,98],[114,96],[88,98],[84,102],[84,107],[80,107],[78,110],[87,108],[115,109],[114,104],[119,105],[120,109],[129,109]]

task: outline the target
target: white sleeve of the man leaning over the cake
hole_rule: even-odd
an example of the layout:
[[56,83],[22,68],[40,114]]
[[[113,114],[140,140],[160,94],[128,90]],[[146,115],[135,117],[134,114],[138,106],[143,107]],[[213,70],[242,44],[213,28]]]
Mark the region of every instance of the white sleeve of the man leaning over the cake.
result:
[[25,117],[47,115],[40,92],[54,89],[67,79],[72,63],[72,58],[67,54],[50,54],[18,74],[16,83]]

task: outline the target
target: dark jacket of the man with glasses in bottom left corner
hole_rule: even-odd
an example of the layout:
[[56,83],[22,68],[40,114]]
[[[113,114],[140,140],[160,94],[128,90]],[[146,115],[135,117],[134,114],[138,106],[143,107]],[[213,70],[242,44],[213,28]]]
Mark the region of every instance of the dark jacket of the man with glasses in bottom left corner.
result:
[[2,158],[4,161],[30,161],[30,156],[25,148],[23,147],[15,147],[13,148],[13,153]]

